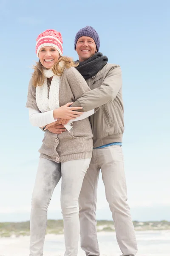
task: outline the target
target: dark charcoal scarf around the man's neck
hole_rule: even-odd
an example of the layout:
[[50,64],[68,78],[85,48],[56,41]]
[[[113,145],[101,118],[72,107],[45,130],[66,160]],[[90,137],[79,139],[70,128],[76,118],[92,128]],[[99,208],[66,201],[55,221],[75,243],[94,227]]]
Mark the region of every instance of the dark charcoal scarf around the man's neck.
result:
[[[79,62],[79,61],[77,61]],[[102,52],[96,52],[87,61],[79,62],[79,66],[76,69],[84,77],[88,79],[95,76],[96,73],[101,70],[108,63],[108,57],[103,56]]]

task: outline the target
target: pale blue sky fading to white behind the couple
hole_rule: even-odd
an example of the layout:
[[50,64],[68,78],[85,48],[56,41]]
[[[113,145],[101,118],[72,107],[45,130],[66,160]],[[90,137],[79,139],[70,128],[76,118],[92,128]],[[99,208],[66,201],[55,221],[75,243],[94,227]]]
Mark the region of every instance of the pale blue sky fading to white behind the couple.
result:
[[[170,2],[1,0],[0,221],[29,219],[43,132],[25,108],[37,35],[62,33],[64,55],[77,59],[74,37],[93,26],[100,52],[123,76],[123,150],[133,220],[170,221]],[[100,176],[97,219],[111,219]],[[48,218],[62,218],[60,183]]]

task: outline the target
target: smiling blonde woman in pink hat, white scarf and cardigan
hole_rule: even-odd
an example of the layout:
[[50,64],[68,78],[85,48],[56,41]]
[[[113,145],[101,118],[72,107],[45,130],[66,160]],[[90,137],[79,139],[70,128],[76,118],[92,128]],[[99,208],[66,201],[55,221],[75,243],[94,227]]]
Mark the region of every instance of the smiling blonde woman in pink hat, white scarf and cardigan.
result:
[[86,117],[94,110],[82,114],[74,111],[81,108],[70,105],[90,89],[74,68],[71,58],[62,57],[59,32],[48,29],[41,33],[37,38],[36,54],[39,62],[29,82],[26,103],[30,122],[45,127],[57,119],[64,119],[62,123],[67,131],[57,135],[46,130],[39,150],[30,218],[30,256],[43,255],[47,208],[60,177],[65,256],[76,256],[79,239],[77,202],[93,148],[91,125]]

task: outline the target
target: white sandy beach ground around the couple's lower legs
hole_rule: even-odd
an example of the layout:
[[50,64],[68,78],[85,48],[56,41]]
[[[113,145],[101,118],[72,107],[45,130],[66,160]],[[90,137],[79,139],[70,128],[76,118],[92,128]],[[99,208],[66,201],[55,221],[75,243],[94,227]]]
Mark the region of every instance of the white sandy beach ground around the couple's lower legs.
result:
[[[138,253],[136,256],[169,256],[170,230],[137,231]],[[116,234],[98,233],[101,256],[120,256]],[[46,235],[44,256],[62,256],[65,251],[63,235]],[[29,236],[0,239],[0,256],[28,256]],[[79,246],[79,256],[85,255]]]

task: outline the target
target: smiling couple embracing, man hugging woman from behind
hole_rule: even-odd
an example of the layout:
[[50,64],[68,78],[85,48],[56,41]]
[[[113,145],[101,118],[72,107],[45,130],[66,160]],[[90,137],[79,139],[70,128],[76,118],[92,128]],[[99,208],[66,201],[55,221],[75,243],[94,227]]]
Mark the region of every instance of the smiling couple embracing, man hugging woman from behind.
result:
[[119,65],[108,63],[99,46],[94,28],[80,29],[74,41],[79,60],[74,62],[62,56],[60,32],[48,29],[37,37],[39,61],[26,107],[31,124],[45,133],[31,203],[30,256],[43,256],[47,209],[60,178],[65,256],[77,256],[79,233],[86,256],[99,256],[100,170],[122,256],[137,252],[126,202],[122,73]]

